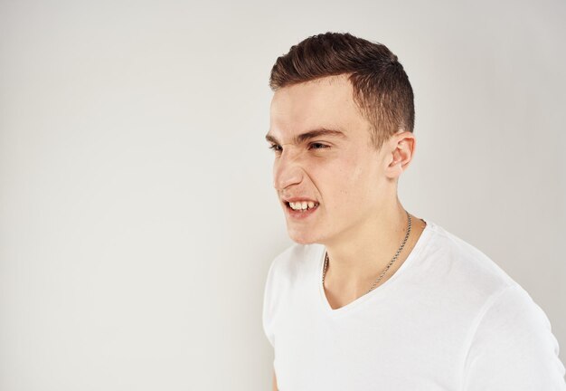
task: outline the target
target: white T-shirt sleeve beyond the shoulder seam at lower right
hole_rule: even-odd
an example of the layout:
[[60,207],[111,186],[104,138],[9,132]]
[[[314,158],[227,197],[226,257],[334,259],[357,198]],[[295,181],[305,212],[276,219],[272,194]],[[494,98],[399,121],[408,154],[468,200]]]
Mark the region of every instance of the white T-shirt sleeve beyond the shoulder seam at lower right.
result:
[[479,314],[464,366],[465,391],[566,391],[551,323],[516,284]]

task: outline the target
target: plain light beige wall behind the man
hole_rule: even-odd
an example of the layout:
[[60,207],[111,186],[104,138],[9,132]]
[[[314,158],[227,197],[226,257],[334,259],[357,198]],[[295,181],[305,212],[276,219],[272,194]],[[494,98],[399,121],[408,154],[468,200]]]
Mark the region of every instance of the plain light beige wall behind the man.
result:
[[547,313],[565,362],[566,4],[0,1],[0,389],[259,390],[269,71],[387,44],[416,94],[400,198]]

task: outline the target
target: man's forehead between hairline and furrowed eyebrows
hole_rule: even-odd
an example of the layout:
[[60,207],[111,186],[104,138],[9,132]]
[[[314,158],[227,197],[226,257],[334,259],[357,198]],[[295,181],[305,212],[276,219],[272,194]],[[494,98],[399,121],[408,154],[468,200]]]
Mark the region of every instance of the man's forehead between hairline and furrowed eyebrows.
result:
[[269,133],[276,137],[316,128],[352,133],[368,125],[354,103],[352,84],[346,75],[284,87],[271,100]]

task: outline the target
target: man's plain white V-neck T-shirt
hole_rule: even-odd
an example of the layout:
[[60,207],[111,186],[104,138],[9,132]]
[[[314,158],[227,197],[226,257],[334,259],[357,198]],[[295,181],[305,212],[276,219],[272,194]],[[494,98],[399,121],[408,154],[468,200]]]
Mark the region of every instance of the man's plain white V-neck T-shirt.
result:
[[486,254],[431,221],[373,291],[333,310],[325,247],[271,263],[263,329],[280,391],[566,390],[542,309]]

